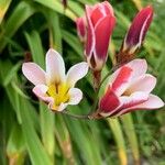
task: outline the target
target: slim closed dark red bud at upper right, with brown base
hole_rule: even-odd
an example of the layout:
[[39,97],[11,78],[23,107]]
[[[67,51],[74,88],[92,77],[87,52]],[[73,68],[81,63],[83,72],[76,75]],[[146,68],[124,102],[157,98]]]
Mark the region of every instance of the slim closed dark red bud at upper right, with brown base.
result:
[[124,37],[120,53],[117,55],[118,64],[123,64],[133,59],[134,54],[141,47],[146,32],[153,19],[153,8],[151,6],[142,9],[134,18]]

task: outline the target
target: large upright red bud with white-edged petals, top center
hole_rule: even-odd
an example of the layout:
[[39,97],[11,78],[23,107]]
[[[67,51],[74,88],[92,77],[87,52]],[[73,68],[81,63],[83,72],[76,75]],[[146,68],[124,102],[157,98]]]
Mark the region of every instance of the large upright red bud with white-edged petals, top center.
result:
[[85,55],[92,70],[100,72],[107,61],[111,33],[116,24],[113,9],[108,1],[86,6],[87,41]]

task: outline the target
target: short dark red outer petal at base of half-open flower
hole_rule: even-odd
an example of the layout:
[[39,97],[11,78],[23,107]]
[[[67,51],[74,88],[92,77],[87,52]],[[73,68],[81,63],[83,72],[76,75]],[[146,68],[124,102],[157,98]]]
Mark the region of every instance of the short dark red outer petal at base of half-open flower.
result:
[[106,95],[101,98],[99,102],[100,114],[103,117],[108,117],[109,113],[111,113],[111,111],[117,109],[119,106],[119,98],[109,86]]

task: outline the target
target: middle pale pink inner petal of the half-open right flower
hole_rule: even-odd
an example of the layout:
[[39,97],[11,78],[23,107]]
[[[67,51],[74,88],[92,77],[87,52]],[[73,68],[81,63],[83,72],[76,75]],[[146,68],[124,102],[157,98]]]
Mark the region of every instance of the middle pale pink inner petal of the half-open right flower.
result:
[[145,91],[150,94],[156,85],[156,78],[150,74],[145,74],[134,80],[129,89],[127,89],[127,94],[132,94],[135,91]]

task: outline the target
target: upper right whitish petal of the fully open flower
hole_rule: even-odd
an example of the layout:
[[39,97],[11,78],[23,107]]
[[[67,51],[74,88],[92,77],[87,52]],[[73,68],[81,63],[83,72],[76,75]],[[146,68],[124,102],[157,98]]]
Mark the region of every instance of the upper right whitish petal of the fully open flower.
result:
[[75,84],[85,77],[88,73],[88,64],[86,62],[79,63],[70,67],[67,73],[66,81],[69,87],[74,87]]

